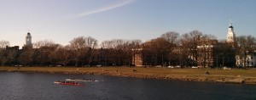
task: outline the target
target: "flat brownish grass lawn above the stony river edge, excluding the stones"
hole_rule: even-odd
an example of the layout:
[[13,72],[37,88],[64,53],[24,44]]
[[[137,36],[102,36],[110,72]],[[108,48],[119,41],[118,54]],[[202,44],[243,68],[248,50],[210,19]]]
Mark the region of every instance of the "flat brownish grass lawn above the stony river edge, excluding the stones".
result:
[[0,67],[0,71],[43,71],[43,72],[110,72],[129,75],[210,75],[256,77],[256,69],[167,69],[128,67]]

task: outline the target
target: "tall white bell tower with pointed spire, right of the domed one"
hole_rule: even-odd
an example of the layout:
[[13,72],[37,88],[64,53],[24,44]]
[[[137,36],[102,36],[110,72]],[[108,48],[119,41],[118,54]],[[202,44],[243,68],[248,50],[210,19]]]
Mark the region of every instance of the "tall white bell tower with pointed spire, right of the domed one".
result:
[[235,40],[236,40],[236,34],[232,26],[232,20],[230,19],[230,27],[228,29],[228,34],[227,34],[227,42],[235,42]]

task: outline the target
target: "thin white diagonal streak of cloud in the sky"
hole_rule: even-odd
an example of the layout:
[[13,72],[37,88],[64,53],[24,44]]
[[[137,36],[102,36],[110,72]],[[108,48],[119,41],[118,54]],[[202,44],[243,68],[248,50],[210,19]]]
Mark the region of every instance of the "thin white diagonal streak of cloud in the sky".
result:
[[120,8],[120,7],[123,7],[127,4],[133,3],[134,1],[135,0],[125,0],[124,2],[121,2],[121,3],[115,3],[115,4],[109,5],[107,7],[97,8],[97,9],[94,9],[94,10],[83,12],[81,14],[78,14],[78,15],[74,16],[74,18],[84,17],[84,16],[87,16],[87,15],[90,15],[90,14],[97,14],[97,13],[105,12],[105,11],[108,11],[108,10],[111,10],[111,9],[114,9],[114,8]]

